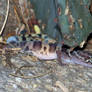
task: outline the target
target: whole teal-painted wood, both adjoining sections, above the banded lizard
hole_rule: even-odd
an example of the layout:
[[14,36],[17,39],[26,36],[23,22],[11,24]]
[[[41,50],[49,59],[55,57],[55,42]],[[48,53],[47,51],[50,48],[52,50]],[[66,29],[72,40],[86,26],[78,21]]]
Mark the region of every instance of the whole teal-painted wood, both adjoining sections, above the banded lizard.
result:
[[[92,16],[89,12],[90,0],[56,0],[57,7],[55,7],[54,0],[31,0],[34,5],[35,13],[38,19],[41,19],[47,24],[47,28],[43,33],[48,34],[50,37],[61,41],[63,38],[64,44],[70,47],[79,46],[81,42],[86,41],[89,34],[92,32]],[[74,18],[73,27],[69,28],[69,15],[65,15],[67,7],[67,1],[69,11]],[[57,8],[61,8],[61,15],[58,16],[61,33],[55,28],[57,23],[54,22],[54,18],[57,17]],[[82,28],[78,20],[82,20]]]

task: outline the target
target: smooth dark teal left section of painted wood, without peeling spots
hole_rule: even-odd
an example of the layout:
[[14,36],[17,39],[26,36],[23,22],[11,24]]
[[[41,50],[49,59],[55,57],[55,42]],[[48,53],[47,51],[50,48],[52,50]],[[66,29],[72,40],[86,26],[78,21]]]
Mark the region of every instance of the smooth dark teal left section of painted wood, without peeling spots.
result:
[[46,29],[42,31],[48,34],[48,36],[61,41],[62,37],[59,31],[56,29],[56,9],[54,0],[31,0],[34,6],[36,17],[41,19],[43,23],[46,23]]

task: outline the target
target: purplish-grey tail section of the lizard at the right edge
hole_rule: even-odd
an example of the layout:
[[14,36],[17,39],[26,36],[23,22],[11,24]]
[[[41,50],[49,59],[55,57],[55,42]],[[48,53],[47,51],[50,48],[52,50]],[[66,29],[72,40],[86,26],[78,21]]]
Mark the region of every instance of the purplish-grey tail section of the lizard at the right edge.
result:
[[[79,55],[79,53],[78,53]],[[92,68],[92,61],[90,61],[91,59],[85,59],[85,57],[88,55],[87,53],[84,53],[84,56],[80,56],[78,57],[78,55],[76,56],[76,54],[71,54],[71,57],[69,57],[69,55],[67,55],[66,53],[62,53],[62,61],[66,64],[70,63],[70,64],[78,64],[78,65],[82,65],[84,67],[90,67]],[[88,57],[92,57],[92,55],[89,55]]]

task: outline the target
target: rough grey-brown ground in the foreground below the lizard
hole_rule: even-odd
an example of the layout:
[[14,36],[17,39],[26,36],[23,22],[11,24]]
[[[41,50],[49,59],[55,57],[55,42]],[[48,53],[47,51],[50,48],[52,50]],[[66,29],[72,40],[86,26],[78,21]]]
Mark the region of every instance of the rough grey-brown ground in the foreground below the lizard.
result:
[[[92,92],[92,69],[79,65],[60,66],[56,61],[33,62],[31,56],[15,56],[11,62],[21,70],[24,76],[43,76],[24,79],[11,76],[16,68],[0,64],[0,92]],[[47,72],[51,71],[47,74]]]

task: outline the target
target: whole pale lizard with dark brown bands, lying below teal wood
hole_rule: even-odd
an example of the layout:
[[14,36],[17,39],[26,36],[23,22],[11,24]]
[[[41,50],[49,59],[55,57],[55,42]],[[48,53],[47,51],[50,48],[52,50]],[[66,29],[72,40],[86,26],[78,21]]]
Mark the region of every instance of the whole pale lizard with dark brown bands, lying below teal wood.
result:
[[[42,60],[53,60],[58,59],[59,62],[64,64],[80,64],[86,67],[92,67],[92,55],[87,52],[74,51],[71,54],[71,57],[66,53],[65,50],[59,50],[58,44],[56,42],[44,42],[38,39],[31,39],[29,41],[20,41],[18,38],[16,41],[9,41],[12,45],[22,48],[22,51],[27,53],[32,53],[33,56],[36,56]],[[62,49],[62,46],[61,46]],[[59,52],[59,53],[58,53]]]

